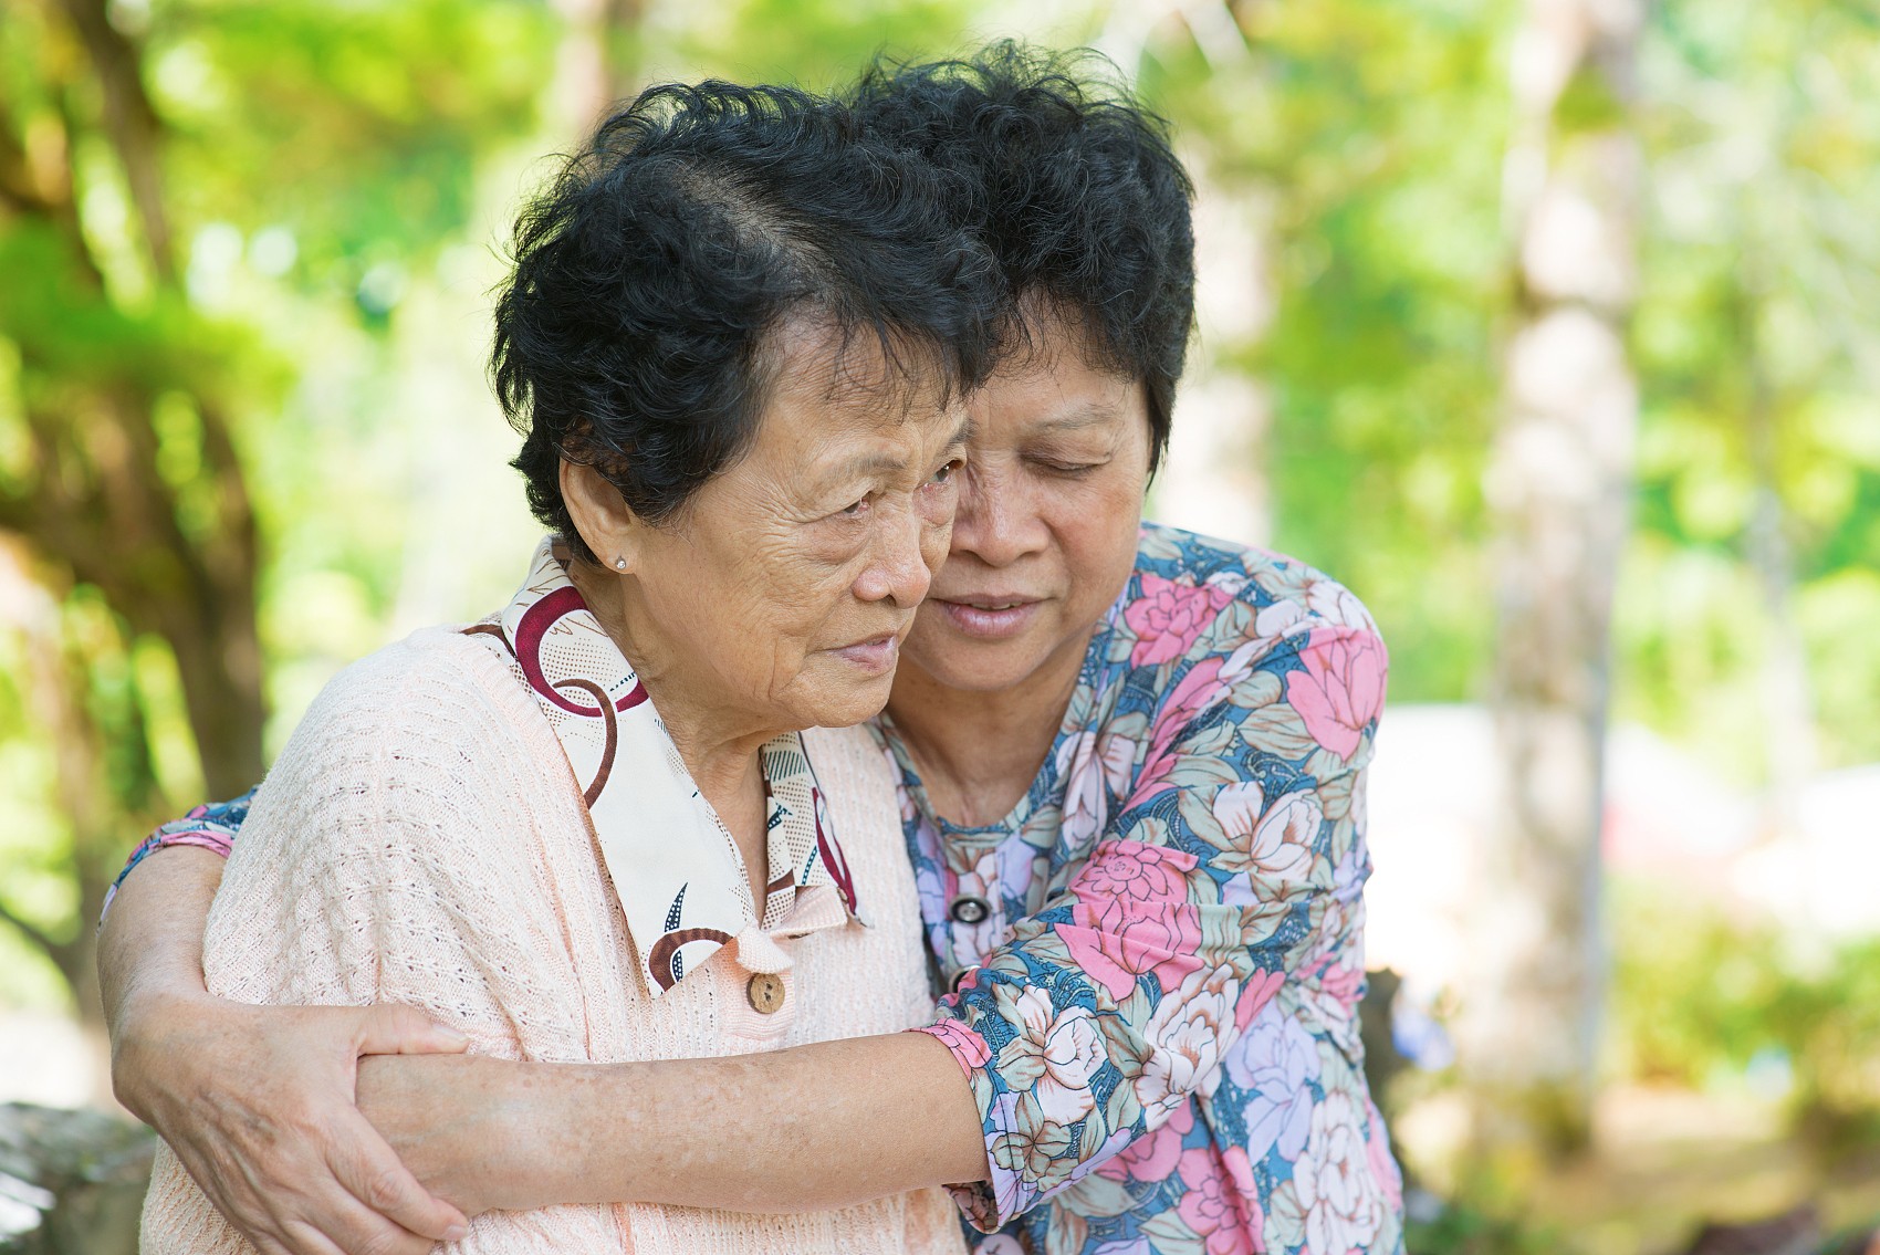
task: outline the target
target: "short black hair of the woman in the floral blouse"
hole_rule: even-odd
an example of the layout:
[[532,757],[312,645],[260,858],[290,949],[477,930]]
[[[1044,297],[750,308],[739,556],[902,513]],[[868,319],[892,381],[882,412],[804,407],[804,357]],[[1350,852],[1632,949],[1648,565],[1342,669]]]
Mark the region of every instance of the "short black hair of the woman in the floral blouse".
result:
[[1194,186],[1167,122],[1098,53],[1010,39],[959,60],[876,58],[848,98],[870,132],[978,190],[1017,312],[1066,318],[1092,366],[1141,381],[1154,470],[1194,331]]

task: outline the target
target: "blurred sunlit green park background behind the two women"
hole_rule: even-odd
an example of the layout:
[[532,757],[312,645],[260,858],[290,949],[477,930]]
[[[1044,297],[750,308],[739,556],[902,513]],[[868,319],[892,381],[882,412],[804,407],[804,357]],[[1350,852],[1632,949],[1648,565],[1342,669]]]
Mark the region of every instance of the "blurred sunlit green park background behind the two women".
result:
[[[0,1099],[111,1108],[90,937],[143,830],[511,592],[483,353],[543,154],[652,79],[991,36],[1102,49],[1194,173],[1151,513],[1391,644],[1412,1251],[1865,1249],[1871,0],[0,0]],[[0,1247],[113,1251],[83,1197],[135,1140],[0,1110]]]

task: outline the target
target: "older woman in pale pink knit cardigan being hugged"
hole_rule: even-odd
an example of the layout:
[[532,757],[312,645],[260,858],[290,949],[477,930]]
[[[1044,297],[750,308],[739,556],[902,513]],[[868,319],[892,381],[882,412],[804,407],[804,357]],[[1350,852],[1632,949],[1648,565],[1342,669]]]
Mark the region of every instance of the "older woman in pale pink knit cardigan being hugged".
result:
[[[483,1058],[590,1063],[927,1022],[893,772],[865,731],[799,731],[882,708],[946,554],[996,310],[946,205],[938,171],[799,92],[654,88],[600,130],[525,214],[496,314],[555,535],[504,611],[374,654],[308,710],[209,917],[216,994],[402,1001]],[[143,1249],[248,1247],[164,1155]],[[489,1212],[459,1249],[961,1232],[923,1191]]]

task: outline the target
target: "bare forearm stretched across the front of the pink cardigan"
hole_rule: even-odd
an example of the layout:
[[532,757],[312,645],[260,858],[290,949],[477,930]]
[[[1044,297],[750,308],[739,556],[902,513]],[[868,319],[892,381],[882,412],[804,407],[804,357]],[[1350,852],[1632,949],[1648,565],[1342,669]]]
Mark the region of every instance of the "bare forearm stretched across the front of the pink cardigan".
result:
[[367,1060],[359,1105],[472,1206],[801,1212],[987,1176],[972,1092],[927,1033],[619,1065]]

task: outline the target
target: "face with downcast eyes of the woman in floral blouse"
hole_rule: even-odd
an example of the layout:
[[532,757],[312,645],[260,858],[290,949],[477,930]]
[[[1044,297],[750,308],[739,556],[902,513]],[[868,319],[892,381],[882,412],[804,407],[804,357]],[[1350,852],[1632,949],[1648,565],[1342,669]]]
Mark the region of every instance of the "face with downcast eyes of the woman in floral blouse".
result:
[[902,667],[995,691],[1075,674],[1136,566],[1149,479],[1137,381],[1092,368],[1081,333],[1034,329],[1038,351],[970,400],[972,447],[946,567]]

